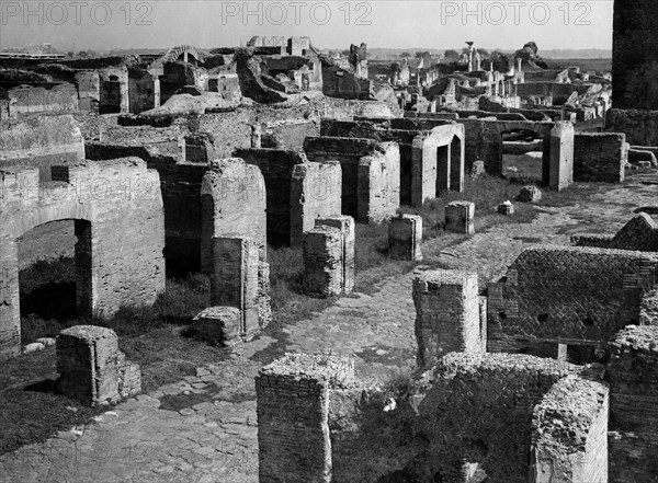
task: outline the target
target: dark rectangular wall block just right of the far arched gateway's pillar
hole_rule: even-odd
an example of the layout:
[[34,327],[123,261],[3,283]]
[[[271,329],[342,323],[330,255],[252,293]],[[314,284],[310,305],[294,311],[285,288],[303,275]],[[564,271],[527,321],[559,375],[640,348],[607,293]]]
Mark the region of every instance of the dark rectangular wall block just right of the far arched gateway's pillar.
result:
[[574,181],[623,183],[628,160],[626,136],[617,133],[576,133]]

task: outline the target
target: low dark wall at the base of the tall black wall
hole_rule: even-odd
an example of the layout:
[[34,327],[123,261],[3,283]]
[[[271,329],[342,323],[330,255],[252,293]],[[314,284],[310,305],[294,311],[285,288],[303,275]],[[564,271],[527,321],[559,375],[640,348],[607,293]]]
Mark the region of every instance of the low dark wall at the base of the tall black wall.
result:
[[615,106],[605,115],[605,130],[625,134],[629,145],[658,146],[658,110],[625,111]]

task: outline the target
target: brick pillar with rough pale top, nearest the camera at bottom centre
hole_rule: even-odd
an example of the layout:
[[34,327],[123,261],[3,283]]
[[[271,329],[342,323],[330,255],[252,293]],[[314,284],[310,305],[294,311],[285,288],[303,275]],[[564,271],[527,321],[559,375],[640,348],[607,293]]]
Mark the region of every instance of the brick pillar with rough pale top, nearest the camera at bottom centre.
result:
[[330,483],[329,395],[354,377],[354,363],[287,354],[256,378],[259,482]]

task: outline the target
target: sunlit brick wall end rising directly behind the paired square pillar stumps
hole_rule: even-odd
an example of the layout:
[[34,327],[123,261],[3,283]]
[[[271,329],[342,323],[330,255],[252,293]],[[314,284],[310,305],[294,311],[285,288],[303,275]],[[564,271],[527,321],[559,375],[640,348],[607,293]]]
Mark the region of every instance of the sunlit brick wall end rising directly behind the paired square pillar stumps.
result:
[[316,219],[341,214],[342,170],[338,161],[307,162],[295,165],[292,177],[290,243],[300,246]]

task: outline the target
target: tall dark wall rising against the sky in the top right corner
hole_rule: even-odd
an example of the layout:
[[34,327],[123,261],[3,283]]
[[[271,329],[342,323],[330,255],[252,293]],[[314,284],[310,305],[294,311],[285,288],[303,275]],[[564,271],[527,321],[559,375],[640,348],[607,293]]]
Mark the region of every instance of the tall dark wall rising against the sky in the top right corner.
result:
[[615,0],[612,34],[612,105],[658,110],[658,12],[650,0]]

